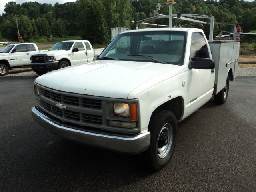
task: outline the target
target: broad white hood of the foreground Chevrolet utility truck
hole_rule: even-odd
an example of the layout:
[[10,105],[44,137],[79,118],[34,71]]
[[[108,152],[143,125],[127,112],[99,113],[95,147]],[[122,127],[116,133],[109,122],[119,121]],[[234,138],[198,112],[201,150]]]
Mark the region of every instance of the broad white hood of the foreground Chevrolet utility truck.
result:
[[147,89],[143,84],[149,80],[157,84],[162,81],[161,74],[178,67],[154,62],[101,60],[62,68],[36,78],[35,82],[65,92],[126,99],[135,88],[140,87],[142,92]]

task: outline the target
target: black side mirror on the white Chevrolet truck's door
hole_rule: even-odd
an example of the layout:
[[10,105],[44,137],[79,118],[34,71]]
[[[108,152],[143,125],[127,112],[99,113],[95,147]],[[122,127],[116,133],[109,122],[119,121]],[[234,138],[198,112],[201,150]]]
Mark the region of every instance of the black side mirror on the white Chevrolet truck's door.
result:
[[194,61],[191,61],[189,66],[189,69],[214,69],[215,63],[214,60],[208,59],[208,58],[195,58]]

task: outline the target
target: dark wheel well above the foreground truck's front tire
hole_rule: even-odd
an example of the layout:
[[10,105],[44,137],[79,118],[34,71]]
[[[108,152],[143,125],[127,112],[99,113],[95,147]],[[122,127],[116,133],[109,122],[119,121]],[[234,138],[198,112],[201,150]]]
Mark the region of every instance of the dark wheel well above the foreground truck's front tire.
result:
[[[183,98],[176,97],[176,98],[173,98],[172,100],[169,100],[168,102],[165,102],[164,104],[156,108],[152,114],[158,113],[159,111],[164,109],[172,111],[175,114],[176,119],[179,120],[182,117],[183,109],[184,109]],[[151,118],[152,116],[153,115],[151,115]],[[151,118],[150,118],[150,121],[151,121]]]

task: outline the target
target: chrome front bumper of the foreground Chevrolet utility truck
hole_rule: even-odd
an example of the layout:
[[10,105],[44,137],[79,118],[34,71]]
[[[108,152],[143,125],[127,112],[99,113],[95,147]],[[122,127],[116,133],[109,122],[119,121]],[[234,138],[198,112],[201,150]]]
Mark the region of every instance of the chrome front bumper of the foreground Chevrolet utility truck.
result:
[[129,136],[77,130],[61,125],[56,120],[44,115],[37,107],[33,107],[31,110],[33,119],[46,130],[61,138],[87,146],[104,148],[125,154],[139,154],[147,150],[150,145],[150,132]]

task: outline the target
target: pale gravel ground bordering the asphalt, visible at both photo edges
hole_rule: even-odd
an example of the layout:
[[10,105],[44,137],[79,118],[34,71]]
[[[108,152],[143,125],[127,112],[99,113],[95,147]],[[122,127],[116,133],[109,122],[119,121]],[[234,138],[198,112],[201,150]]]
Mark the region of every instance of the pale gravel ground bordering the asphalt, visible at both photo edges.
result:
[[[240,61],[256,61],[256,56],[239,56]],[[38,76],[29,66],[16,68],[9,71],[6,76]],[[255,64],[238,64],[237,76],[256,76]]]

